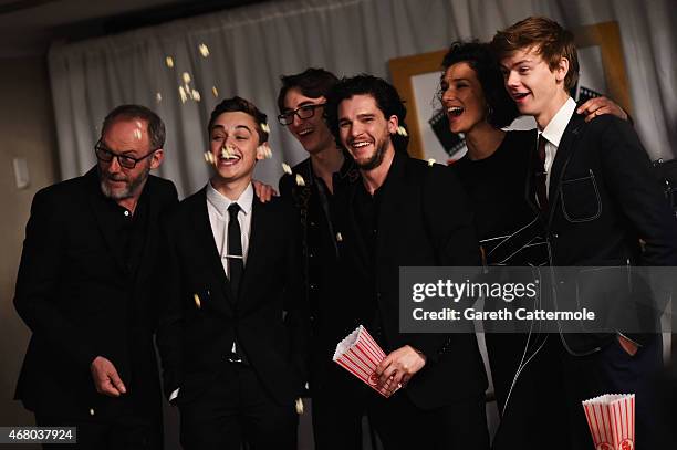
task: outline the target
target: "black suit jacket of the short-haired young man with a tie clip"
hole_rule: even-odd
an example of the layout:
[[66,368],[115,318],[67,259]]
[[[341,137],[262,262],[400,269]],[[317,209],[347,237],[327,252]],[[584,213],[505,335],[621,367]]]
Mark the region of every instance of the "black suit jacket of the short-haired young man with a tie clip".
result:
[[[167,223],[166,308],[157,343],[165,394],[191,401],[219,375],[233,339],[279,404],[293,402],[305,378],[308,326],[293,208],[254,197],[247,263],[236,299],[209,223],[206,189]],[[196,302],[199,299],[199,305]]]

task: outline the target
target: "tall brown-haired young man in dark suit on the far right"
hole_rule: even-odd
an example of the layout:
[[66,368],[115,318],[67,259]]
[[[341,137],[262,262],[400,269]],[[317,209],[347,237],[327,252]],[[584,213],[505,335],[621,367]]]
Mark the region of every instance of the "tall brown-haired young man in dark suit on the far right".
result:
[[[585,122],[575,114],[569,96],[579,76],[573,35],[550,19],[528,18],[498,32],[492,45],[509,94],[538,124],[529,201],[544,223],[550,264],[676,265],[675,220],[637,134],[613,115]],[[559,289],[566,287],[563,282],[558,281]],[[613,299],[615,304],[605,308],[636,314],[631,304]],[[581,401],[615,393],[636,394],[635,444],[657,448],[652,379],[662,366],[660,335],[617,328],[561,333],[560,342],[553,341],[549,345],[561,355],[553,376],[562,375],[566,405],[561,407],[569,408],[562,433],[569,448],[593,446]]]

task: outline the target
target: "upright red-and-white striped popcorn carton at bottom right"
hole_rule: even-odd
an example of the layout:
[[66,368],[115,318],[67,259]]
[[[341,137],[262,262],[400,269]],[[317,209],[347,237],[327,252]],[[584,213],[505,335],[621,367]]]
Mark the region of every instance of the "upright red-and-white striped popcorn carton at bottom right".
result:
[[635,395],[606,394],[583,401],[595,450],[635,449]]

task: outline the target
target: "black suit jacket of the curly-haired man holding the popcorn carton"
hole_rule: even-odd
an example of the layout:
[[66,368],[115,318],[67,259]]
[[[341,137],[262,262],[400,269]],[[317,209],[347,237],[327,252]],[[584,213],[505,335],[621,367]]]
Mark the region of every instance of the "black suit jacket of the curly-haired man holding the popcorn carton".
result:
[[[375,266],[368,266],[361,227],[355,217],[355,195],[362,181],[337,192],[335,223],[341,232],[341,280],[345,302],[336,314],[344,317],[344,335],[368,320],[375,295],[381,312],[386,354],[410,345],[426,355],[424,368],[409,381],[406,394],[420,408],[449,405],[477,397],[487,388],[485,367],[475,334],[403,334],[399,332],[399,268],[480,264],[479,243],[466,193],[447,167],[396,151],[381,187]],[[338,287],[337,287],[338,289]],[[338,341],[336,341],[338,342]]]

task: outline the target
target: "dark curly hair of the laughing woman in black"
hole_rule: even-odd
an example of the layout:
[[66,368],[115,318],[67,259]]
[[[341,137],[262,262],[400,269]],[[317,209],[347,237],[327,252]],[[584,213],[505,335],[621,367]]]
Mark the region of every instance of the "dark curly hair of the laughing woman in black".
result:
[[[506,91],[503,75],[501,74],[501,70],[491,46],[488,43],[478,41],[454,42],[442,60],[442,74],[440,81],[450,66],[461,62],[468,63],[468,65],[472,67],[482,86],[485,100],[489,109],[487,122],[497,128],[510,125],[520,113]],[[442,94],[440,87],[438,93],[440,101]]]

